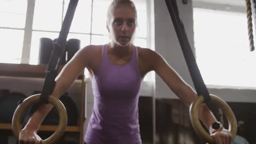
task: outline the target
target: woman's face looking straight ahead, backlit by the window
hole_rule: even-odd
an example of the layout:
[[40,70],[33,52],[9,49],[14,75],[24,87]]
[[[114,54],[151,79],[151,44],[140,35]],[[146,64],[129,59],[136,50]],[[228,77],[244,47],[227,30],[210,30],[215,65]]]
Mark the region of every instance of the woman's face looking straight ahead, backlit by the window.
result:
[[127,46],[132,43],[136,29],[136,11],[129,6],[113,9],[107,25],[112,42]]

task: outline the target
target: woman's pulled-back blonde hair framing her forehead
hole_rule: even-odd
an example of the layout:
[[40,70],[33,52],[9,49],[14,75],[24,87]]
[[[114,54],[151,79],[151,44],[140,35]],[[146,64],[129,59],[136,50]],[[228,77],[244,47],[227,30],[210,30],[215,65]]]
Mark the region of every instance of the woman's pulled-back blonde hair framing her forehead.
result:
[[110,19],[113,16],[113,10],[123,6],[129,6],[135,10],[135,21],[137,26],[137,10],[135,4],[131,0],[113,0],[112,3],[110,3],[108,6],[107,23],[109,24]]

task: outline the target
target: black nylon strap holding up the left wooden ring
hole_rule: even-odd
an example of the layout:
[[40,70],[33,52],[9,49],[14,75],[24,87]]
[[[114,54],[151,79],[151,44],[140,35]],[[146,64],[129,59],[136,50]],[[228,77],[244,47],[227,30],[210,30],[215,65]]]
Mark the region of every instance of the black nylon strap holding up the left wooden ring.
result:
[[65,55],[67,35],[71,27],[77,3],[78,0],[69,1],[67,13],[62,23],[59,38],[57,39],[56,43],[54,43],[53,51],[51,52],[49,59],[48,70],[44,80],[43,89],[40,95],[40,101],[42,103],[48,103],[49,95],[53,92],[55,87],[55,77],[57,75],[57,70],[59,68],[61,58]]

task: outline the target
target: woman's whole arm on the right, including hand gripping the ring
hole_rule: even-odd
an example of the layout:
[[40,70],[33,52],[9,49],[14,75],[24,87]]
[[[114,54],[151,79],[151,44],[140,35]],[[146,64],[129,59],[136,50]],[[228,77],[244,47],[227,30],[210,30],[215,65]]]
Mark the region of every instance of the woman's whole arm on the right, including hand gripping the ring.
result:
[[[151,51],[148,54],[150,59],[149,63],[152,65],[152,70],[158,74],[162,80],[165,81],[167,86],[182,100],[185,104],[190,105],[195,99],[197,94],[195,91],[184,82],[181,77],[174,71],[170,65],[167,64],[165,59],[159,53]],[[199,118],[209,129],[211,125],[216,122],[216,118],[205,104],[199,108]],[[216,133],[211,134],[216,143],[231,143],[231,133],[226,129],[219,129]]]

